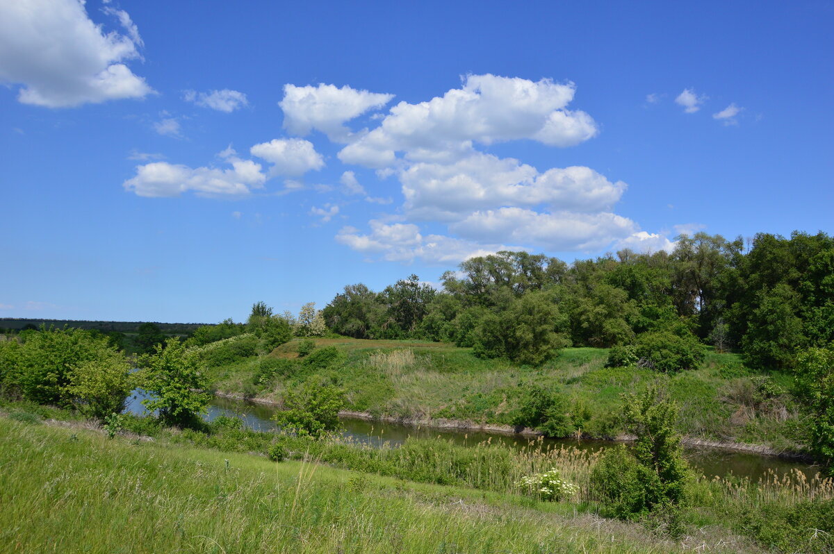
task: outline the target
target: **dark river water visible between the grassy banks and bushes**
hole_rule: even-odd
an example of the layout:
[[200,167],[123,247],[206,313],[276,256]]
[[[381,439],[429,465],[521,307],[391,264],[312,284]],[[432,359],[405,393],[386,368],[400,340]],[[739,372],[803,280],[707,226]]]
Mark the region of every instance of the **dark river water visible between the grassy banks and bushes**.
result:
[[[126,412],[143,413],[141,404],[143,392],[134,391],[133,396],[128,399]],[[271,417],[275,408],[254,402],[244,402],[230,398],[212,398],[208,406],[210,422],[218,416],[237,416],[244,420],[246,427],[255,431],[274,431],[277,427]],[[486,432],[461,431],[458,429],[441,429],[437,427],[414,427],[389,422],[372,422],[364,419],[343,417],[344,436],[350,437],[354,442],[364,442],[372,446],[379,446],[389,442],[391,446],[399,446],[409,437],[442,437],[455,444],[463,446],[475,446],[479,442],[491,441],[492,444],[505,444],[510,447],[522,448],[528,445],[530,438],[516,435],[502,435]],[[538,442],[538,441],[536,441]],[[595,452],[602,447],[610,447],[610,441],[592,441],[576,439],[542,439],[545,446],[554,447],[575,447],[580,450]],[[706,477],[749,477],[753,481],[759,477],[765,477],[768,471],[776,472],[777,475],[798,469],[804,472],[807,477],[813,477],[819,471],[819,467],[812,466],[807,462],[787,460],[779,457],[761,456],[751,452],[736,452],[723,448],[712,447],[686,447],[686,459],[691,466]]]

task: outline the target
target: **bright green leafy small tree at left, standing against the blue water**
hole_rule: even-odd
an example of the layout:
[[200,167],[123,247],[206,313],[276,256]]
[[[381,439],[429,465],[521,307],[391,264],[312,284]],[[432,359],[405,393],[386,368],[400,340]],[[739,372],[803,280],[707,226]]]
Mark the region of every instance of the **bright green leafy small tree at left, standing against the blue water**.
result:
[[164,347],[157,345],[153,354],[139,359],[139,365],[142,387],[151,395],[142,403],[149,412],[158,411],[163,422],[183,425],[206,412],[210,396],[203,392],[208,387],[203,364],[177,339],[168,339]]

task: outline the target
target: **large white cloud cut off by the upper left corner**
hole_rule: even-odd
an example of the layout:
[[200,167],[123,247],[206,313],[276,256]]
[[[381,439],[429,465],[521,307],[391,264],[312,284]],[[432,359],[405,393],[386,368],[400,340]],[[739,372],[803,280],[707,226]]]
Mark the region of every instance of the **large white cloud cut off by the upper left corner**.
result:
[[138,30],[113,10],[128,36],[104,33],[78,0],[0,2],[0,82],[20,84],[18,101],[73,107],[153,92],[123,62],[141,58]]

